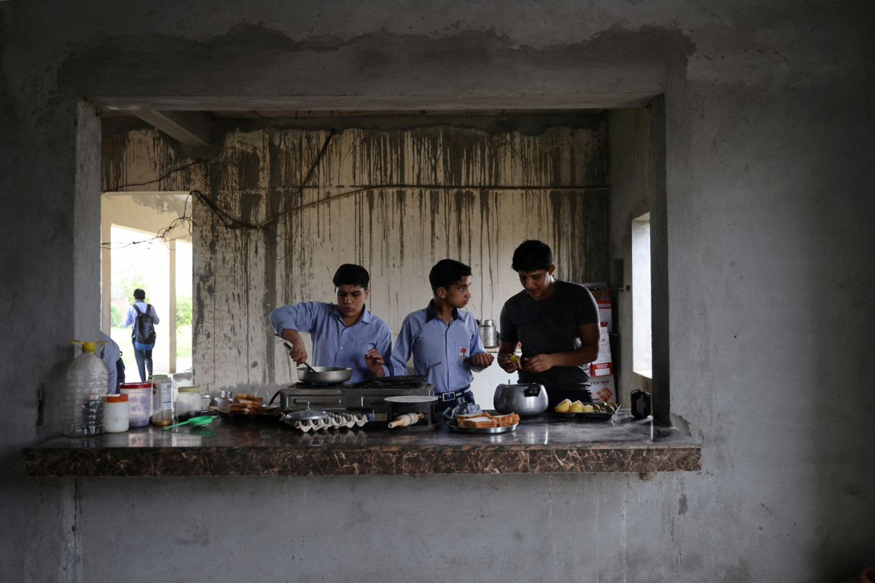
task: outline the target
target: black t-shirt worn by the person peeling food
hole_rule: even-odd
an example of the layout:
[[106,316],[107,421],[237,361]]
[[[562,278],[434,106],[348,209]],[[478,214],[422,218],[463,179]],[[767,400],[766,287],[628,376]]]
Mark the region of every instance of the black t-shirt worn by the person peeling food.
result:
[[[501,309],[500,340],[522,344],[522,357],[568,352],[580,348],[577,326],[598,323],[598,304],[590,290],[577,283],[556,280],[553,294],[538,302],[525,289]],[[547,388],[573,388],[590,380],[589,364],[554,366],[549,371],[520,371],[521,383]]]

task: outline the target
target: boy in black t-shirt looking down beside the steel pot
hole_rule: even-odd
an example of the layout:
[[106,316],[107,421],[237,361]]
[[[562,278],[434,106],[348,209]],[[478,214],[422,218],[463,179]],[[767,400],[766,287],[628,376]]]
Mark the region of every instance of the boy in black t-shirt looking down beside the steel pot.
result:
[[[521,383],[544,385],[549,407],[563,399],[591,402],[589,364],[598,357],[598,305],[590,290],[553,277],[553,253],[538,240],[514,251],[523,290],[501,309],[498,363]],[[511,358],[522,344],[522,368]]]

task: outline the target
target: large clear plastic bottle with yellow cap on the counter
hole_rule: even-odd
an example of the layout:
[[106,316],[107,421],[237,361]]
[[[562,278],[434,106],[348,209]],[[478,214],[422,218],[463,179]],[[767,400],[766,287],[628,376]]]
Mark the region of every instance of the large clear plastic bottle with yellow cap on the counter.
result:
[[103,433],[109,371],[97,356],[98,344],[71,340],[82,349],[66,369],[66,400],[64,404],[64,434],[68,437],[88,437]]

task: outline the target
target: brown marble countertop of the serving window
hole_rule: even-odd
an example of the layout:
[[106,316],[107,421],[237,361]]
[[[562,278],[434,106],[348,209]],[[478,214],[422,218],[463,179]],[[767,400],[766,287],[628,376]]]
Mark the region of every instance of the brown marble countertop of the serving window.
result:
[[217,419],[163,431],[136,427],[25,448],[26,475],[422,475],[698,471],[702,444],[673,427],[634,420],[523,418],[506,434],[321,430]]

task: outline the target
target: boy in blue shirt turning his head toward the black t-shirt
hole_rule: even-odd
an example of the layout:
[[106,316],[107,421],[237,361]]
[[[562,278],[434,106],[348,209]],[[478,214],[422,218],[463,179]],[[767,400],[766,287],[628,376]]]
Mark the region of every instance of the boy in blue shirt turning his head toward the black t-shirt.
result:
[[441,363],[428,371],[425,380],[435,385],[435,408],[442,412],[456,406],[462,395],[474,402],[471,371],[485,369],[493,356],[483,349],[477,320],[462,310],[471,300],[471,267],[451,259],[437,261],[429,282],[434,297],[424,309],[404,318],[391,362],[395,374],[404,374],[412,353],[416,375],[426,374],[430,364]]

